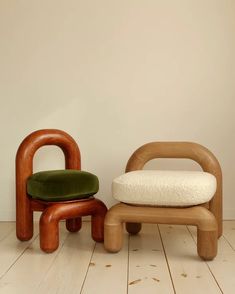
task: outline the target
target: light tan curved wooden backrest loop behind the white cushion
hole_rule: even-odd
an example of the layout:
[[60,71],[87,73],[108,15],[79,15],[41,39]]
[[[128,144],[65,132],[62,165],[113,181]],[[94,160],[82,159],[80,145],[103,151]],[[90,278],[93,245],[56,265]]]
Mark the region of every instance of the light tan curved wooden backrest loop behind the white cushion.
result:
[[187,158],[196,161],[201,168],[213,174],[217,190],[209,202],[209,209],[218,222],[218,236],[222,234],[222,171],[214,154],[202,145],[192,142],[151,142],[138,148],[128,160],[126,172],[140,170],[154,158]]

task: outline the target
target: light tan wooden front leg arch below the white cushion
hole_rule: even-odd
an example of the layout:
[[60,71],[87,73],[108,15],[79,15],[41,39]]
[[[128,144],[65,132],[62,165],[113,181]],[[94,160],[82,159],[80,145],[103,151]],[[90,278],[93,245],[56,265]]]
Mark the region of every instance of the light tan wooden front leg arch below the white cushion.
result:
[[210,260],[217,254],[217,223],[213,214],[204,207],[163,208],[116,204],[105,218],[104,246],[110,252],[118,252],[122,248],[123,222],[195,225],[198,228],[199,256]]

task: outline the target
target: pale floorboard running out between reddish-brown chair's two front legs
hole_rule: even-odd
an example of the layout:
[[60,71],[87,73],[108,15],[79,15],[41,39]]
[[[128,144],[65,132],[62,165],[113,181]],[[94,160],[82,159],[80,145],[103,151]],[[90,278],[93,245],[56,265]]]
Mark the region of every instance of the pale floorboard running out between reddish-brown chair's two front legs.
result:
[[35,294],[80,293],[95,246],[91,238],[90,226],[90,223],[83,223],[79,233],[68,235]]

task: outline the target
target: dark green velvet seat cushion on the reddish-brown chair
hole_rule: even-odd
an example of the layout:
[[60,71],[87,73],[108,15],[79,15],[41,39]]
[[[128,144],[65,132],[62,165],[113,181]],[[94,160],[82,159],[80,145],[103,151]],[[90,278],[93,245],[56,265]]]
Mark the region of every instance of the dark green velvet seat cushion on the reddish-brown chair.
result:
[[50,170],[33,174],[27,181],[27,193],[44,201],[87,198],[99,190],[97,176],[80,170]]

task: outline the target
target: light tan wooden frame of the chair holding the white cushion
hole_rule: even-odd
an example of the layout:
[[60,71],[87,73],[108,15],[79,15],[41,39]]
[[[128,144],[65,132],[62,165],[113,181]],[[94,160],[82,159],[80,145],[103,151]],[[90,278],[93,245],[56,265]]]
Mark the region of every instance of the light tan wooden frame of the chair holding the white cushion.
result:
[[[114,205],[106,214],[104,227],[106,250],[118,252],[122,248],[123,223],[126,223],[126,229],[130,234],[137,234],[141,230],[141,223],[145,222],[195,225],[198,255],[205,260],[213,259],[217,254],[217,238],[222,234],[222,172],[218,160],[208,149],[196,143],[152,142],[133,153],[127,163],[126,172],[142,170],[145,163],[154,158],[187,158],[196,161],[204,172],[216,178],[214,196],[207,203],[186,207],[128,203],[127,197],[121,203]],[[128,189],[131,190],[130,186]],[[144,203],[144,200],[141,203]]]

